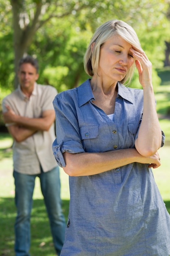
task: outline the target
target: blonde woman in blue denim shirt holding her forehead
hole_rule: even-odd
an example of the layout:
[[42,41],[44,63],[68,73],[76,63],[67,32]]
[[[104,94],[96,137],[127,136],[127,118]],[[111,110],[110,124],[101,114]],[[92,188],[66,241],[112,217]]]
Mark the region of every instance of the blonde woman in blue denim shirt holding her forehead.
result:
[[[143,87],[125,87],[134,67]],[[110,20],[84,57],[91,79],[58,94],[55,158],[70,176],[61,256],[168,256],[170,216],[152,174],[163,146],[152,65],[135,31]]]

